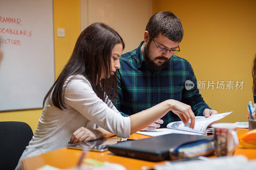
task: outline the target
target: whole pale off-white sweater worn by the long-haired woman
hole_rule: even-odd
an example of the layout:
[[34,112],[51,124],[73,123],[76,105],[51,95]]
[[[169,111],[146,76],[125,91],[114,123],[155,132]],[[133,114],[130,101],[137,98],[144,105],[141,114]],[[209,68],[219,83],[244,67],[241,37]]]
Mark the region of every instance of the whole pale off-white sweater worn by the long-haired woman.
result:
[[[67,108],[60,110],[55,107],[51,95],[49,96],[50,100],[45,102],[36,132],[20,161],[66,147],[73,132],[81,126],[95,129],[98,125],[118,137],[130,136],[130,117],[123,117],[112,103],[112,108],[108,107],[92,90],[90,82],[84,76],[70,76],[63,88],[65,86],[64,101]],[[21,169],[20,161],[16,169]]]

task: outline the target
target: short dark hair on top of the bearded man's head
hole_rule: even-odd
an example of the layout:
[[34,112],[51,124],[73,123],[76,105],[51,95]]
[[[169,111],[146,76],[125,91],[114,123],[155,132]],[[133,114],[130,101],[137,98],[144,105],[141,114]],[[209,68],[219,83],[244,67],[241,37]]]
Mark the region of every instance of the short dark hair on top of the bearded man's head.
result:
[[[170,11],[157,12],[149,19],[146,31],[151,33],[153,38],[159,33],[173,42],[181,42],[183,38],[183,27],[180,18]],[[152,41],[149,38],[149,42]]]

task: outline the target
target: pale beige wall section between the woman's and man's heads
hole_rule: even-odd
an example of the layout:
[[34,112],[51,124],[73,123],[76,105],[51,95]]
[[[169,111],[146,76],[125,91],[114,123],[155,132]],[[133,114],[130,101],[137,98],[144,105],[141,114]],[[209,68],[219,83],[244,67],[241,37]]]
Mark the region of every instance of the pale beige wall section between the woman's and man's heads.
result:
[[81,31],[94,22],[104,22],[123,38],[125,52],[139,46],[152,15],[152,0],[80,0]]

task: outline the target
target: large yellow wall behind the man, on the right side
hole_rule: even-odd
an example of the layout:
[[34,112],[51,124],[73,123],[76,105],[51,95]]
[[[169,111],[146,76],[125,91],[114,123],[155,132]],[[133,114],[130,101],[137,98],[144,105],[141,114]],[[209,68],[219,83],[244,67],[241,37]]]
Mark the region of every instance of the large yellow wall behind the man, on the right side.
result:
[[[256,53],[256,1],[153,0],[153,13],[172,11],[183,25],[178,56],[187,59],[197,81],[244,81],[242,90],[200,90],[220,122],[247,121],[252,97],[251,64]],[[216,88],[215,84],[215,88]]]

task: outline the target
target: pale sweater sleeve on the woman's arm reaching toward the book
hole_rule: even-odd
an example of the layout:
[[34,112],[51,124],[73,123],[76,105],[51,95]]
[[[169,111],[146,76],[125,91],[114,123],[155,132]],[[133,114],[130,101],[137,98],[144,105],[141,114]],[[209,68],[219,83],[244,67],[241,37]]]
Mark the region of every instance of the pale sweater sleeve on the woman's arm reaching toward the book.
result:
[[[114,133],[117,137],[129,137],[131,130],[130,117],[124,117],[111,109],[93,91],[86,79],[72,79],[64,93],[65,104],[76,109],[89,121]],[[113,105],[111,103],[111,105]]]

